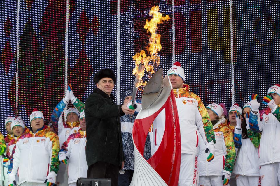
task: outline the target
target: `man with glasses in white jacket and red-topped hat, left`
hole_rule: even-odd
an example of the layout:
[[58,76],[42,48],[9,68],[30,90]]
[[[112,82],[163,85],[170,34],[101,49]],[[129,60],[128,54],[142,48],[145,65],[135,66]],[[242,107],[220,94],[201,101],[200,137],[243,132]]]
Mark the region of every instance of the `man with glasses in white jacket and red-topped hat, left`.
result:
[[[13,164],[8,170],[10,185],[55,185],[60,164],[58,136],[44,125],[43,113],[36,109],[30,115],[30,123],[32,130],[21,135],[13,149]],[[15,181],[17,173],[18,183]]]

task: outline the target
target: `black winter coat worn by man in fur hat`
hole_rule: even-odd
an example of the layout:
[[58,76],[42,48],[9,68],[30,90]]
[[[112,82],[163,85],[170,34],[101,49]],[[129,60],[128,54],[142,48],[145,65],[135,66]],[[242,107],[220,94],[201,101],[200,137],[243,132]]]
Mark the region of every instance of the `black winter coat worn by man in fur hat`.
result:
[[124,161],[120,116],[125,113],[114,101],[98,88],[85,101],[88,167],[98,161],[121,166]]

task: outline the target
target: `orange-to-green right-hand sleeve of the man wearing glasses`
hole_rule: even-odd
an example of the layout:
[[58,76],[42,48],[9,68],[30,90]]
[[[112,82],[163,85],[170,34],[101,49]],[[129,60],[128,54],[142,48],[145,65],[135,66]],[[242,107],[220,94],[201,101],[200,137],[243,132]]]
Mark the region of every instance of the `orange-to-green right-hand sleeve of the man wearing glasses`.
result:
[[48,133],[46,133],[46,137],[49,137],[52,142],[52,146],[49,147],[49,153],[51,155],[50,171],[54,171],[57,174],[60,164],[58,158],[58,152],[60,151],[58,136],[49,131]]

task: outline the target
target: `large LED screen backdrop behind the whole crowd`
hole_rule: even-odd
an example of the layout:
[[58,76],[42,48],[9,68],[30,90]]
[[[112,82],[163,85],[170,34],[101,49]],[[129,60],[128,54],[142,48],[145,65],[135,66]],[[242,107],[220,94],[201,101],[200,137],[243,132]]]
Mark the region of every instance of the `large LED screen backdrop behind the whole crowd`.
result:
[[[175,61],[205,105],[241,106],[280,83],[280,2],[269,0],[3,0],[0,2],[0,130],[34,108],[46,123],[71,83],[82,101],[101,68],[115,71],[118,103],[132,87],[132,56],[147,52],[152,6],[171,19],[158,25],[164,73]],[[16,74],[17,72],[17,74]],[[144,76],[147,80],[147,76]],[[71,104],[69,104],[69,107]]]

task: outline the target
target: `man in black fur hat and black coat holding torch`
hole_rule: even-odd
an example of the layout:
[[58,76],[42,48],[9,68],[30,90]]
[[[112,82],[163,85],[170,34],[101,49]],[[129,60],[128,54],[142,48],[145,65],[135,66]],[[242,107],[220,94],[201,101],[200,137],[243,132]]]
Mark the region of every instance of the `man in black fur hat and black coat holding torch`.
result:
[[120,116],[135,110],[116,105],[111,94],[116,76],[111,69],[101,69],[93,78],[97,88],[85,102],[88,178],[111,178],[118,185],[118,173],[124,165]]

